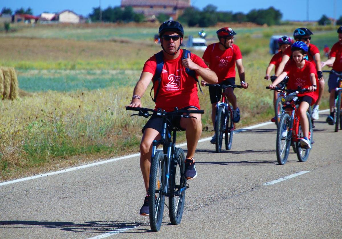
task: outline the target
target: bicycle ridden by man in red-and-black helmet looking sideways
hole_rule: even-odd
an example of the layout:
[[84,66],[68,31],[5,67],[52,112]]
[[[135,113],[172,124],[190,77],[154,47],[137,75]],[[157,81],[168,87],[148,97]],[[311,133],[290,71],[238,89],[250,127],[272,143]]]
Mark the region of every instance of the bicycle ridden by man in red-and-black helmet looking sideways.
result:
[[225,89],[231,88],[243,88],[241,85],[220,85],[220,84],[205,84],[206,86],[218,86],[221,87],[221,102],[216,106],[215,116],[215,150],[216,153],[220,153],[222,149],[222,140],[224,133],[224,144],[226,150],[231,150],[233,142],[233,131],[235,129],[235,123],[233,121],[233,109],[229,104],[229,101],[225,95]]

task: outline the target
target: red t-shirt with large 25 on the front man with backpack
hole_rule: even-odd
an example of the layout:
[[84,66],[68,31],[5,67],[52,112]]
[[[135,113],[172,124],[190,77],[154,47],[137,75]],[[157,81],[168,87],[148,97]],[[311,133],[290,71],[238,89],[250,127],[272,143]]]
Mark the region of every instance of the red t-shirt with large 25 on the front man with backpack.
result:
[[[161,108],[170,112],[174,111],[175,107],[178,107],[178,109],[187,106],[200,108],[197,95],[197,82],[185,72],[185,67],[182,65],[181,60],[183,50],[181,49],[179,51],[179,57],[176,59],[168,60],[164,58],[163,69],[160,73],[160,89],[156,98],[156,109]],[[208,68],[199,56],[191,54],[190,58],[200,67]],[[156,56],[153,55],[145,62],[143,72],[150,72],[154,75],[156,68]],[[154,94],[157,92],[158,84],[158,81],[155,81]]]

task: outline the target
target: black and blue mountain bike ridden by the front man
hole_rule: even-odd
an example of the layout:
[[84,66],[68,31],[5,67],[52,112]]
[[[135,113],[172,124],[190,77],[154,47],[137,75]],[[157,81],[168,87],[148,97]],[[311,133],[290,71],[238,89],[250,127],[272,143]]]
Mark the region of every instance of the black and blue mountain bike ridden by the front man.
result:
[[[154,140],[152,144],[151,168],[149,178],[149,221],[152,231],[159,231],[163,212],[165,197],[169,197],[169,216],[171,224],[181,223],[185,190],[189,187],[184,177],[185,155],[181,148],[176,147],[176,132],[180,129],[174,127],[168,116],[180,115],[184,118],[196,118],[190,113],[203,114],[203,110],[178,110],[166,112],[162,109],[132,108],[126,110],[139,111],[138,116],[148,118],[152,112],[163,119],[161,138]],[[185,114],[184,114],[185,113]],[[171,139],[172,132],[172,139]],[[159,145],[163,145],[163,151],[157,151]]]

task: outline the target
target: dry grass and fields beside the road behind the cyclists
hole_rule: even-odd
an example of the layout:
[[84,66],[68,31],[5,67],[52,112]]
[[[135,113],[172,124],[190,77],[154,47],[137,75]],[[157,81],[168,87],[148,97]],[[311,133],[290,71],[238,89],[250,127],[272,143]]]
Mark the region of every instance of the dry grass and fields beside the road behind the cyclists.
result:
[[[263,79],[272,57],[269,37],[291,36],[294,28],[234,28],[250,84],[247,90],[236,89],[242,113],[237,127],[273,116],[273,94],[265,89],[269,82]],[[320,50],[337,41],[335,30],[313,29],[312,43]],[[132,37],[135,30],[141,32]],[[216,41],[215,30],[206,29],[208,43]],[[194,36],[197,31],[185,29]],[[160,51],[153,42],[155,32],[156,28],[35,27],[0,33],[0,65],[15,67],[21,89],[19,99],[0,101],[0,181],[139,151],[146,119],[130,117],[124,106],[144,62]],[[150,87],[142,98],[144,107],[153,107]],[[213,127],[208,89],[202,89],[204,137],[212,135]],[[328,106],[327,99],[325,94],[321,109]]]

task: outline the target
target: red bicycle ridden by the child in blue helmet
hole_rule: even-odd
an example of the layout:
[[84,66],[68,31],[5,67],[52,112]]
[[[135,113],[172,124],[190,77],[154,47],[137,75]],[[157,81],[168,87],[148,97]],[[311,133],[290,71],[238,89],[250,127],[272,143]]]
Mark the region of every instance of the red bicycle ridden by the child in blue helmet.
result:
[[[269,89],[267,86],[266,89]],[[310,148],[307,146],[302,146],[300,144],[300,140],[303,138],[302,128],[300,126],[300,118],[297,109],[297,100],[298,93],[306,92],[307,89],[297,89],[297,90],[289,90],[289,89],[281,89],[279,87],[275,87],[274,90],[281,90],[284,93],[290,94],[281,94],[281,102],[283,113],[280,116],[280,121],[277,129],[277,139],[276,139],[276,153],[277,153],[277,161],[280,165],[284,165],[287,161],[287,158],[290,153],[290,146],[292,145],[293,150],[297,153],[298,160],[301,162],[305,162],[309,156]],[[290,111],[286,111],[286,109],[290,109]],[[309,123],[309,137],[311,144],[313,141],[313,128],[311,123],[311,116],[309,112],[306,112],[306,116]],[[279,127],[280,126],[280,127]],[[283,132],[287,131],[286,137],[283,137]]]

